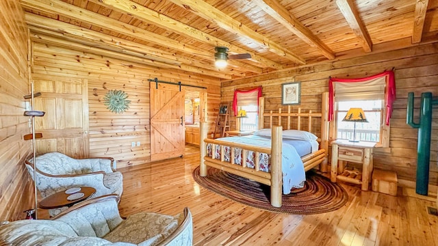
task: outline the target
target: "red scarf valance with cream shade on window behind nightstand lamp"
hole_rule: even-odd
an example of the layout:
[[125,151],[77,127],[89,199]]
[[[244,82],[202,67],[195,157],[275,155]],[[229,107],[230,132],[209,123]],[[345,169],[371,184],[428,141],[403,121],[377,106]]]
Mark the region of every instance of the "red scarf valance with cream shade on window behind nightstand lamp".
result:
[[[385,71],[380,74],[375,74],[370,77],[358,78],[358,79],[335,79],[330,78],[329,80],[329,121],[333,120],[333,108],[334,108],[334,97],[339,96],[341,98],[348,98],[348,94],[351,95],[361,93],[362,90],[367,90],[368,92],[374,90],[382,90],[381,78],[385,79],[385,103],[386,103],[386,118],[385,124],[389,126],[389,119],[392,115],[392,103],[396,100],[396,80],[394,77],[394,71]],[[339,83],[334,85],[334,83]],[[357,83],[355,85],[355,90],[351,91],[351,87],[342,85],[342,83]],[[336,87],[335,89],[333,87]]]

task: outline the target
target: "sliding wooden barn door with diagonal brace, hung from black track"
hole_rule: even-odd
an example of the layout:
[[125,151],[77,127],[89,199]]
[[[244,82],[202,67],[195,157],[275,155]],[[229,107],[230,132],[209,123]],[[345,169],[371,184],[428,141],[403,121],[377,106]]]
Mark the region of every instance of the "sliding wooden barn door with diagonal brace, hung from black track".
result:
[[184,87],[151,82],[151,161],[184,153]]

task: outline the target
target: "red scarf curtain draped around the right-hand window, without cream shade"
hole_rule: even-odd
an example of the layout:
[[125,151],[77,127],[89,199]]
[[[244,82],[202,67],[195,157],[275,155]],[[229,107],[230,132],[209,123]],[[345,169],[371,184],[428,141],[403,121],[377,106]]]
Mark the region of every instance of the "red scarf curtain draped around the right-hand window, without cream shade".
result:
[[386,88],[385,88],[385,100],[386,100],[386,118],[385,118],[385,124],[389,126],[389,119],[391,119],[392,115],[392,103],[394,100],[396,100],[396,79],[394,77],[394,71],[385,71],[380,74],[375,74],[370,77],[365,78],[359,78],[359,79],[334,79],[330,78],[329,80],[329,121],[333,120],[333,108],[334,108],[334,101],[335,101],[335,94],[333,92],[333,83],[336,82],[363,82],[370,79],[376,79],[379,77],[386,77]]

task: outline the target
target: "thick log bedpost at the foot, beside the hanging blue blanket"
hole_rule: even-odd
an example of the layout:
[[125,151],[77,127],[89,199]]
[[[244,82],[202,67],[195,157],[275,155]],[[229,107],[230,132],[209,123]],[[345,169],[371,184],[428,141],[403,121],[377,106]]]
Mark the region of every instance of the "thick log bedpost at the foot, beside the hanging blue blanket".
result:
[[271,141],[271,205],[281,207],[283,170],[281,168],[282,126],[272,126]]

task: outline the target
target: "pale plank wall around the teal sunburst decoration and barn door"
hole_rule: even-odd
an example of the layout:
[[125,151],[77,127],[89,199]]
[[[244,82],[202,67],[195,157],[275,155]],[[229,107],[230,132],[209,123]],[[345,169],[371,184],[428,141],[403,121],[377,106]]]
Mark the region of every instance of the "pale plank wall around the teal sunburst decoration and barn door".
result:
[[[75,51],[60,44],[34,42],[34,79],[88,81],[90,156],[112,156],[117,167],[150,161],[149,81],[162,81],[207,87],[209,105],[220,101],[220,81],[196,74],[164,70],[130,61]],[[124,113],[112,113],[103,105],[108,90],[123,90],[131,100]],[[208,115],[214,115],[209,107]],[[210,128],[214,116],[209,117]],[[210,129],[210,131],[213,131]],[[131,143],[136,144],[135,147]],[[140,146],[137,143],[140,142]]]

